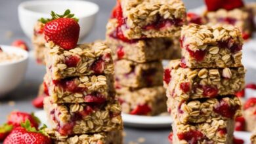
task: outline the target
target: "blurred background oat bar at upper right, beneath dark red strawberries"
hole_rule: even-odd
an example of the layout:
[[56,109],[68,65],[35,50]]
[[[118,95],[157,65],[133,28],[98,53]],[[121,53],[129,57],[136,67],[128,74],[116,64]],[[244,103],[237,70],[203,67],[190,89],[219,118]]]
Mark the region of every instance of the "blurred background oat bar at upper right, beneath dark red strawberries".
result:
[[254,30],[253,11],[249,8],[233,10],[219,9],[214,12],[205,12],[209,24],[230,24],[242,31],[242,37],[248,39]]

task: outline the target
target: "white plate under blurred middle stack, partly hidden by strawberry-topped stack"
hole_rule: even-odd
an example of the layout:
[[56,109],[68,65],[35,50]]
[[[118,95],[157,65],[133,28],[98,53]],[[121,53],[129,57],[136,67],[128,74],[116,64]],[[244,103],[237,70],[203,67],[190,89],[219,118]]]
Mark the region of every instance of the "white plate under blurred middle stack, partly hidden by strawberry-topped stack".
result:
[[[49,126],[45,111],[36,111],[35,116],[41,120],[42,124]],[[170,128],[173,122],[170,116],[146,117],[122,113],[122,117],[125,126],[135,126],[137,128]]]

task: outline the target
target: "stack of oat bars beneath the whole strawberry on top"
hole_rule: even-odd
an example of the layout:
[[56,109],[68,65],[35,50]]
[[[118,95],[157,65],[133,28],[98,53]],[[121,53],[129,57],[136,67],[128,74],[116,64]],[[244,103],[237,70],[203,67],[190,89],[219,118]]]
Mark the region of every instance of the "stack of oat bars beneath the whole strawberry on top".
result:
[[49,97],[44,109],[55,143],[122,143],[121,107],[115,99],[114,63],[102,42],[64,50],[45,44]]

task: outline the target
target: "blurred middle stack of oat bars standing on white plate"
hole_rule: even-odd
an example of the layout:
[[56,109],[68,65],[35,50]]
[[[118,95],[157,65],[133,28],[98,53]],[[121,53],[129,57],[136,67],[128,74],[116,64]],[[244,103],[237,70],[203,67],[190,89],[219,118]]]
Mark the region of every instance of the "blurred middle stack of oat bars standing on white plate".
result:
[[181,0],[117,0],[106,41],[114,53],[115,86],[122,111],[159,115],[166,111],[161,60],[179,57]]

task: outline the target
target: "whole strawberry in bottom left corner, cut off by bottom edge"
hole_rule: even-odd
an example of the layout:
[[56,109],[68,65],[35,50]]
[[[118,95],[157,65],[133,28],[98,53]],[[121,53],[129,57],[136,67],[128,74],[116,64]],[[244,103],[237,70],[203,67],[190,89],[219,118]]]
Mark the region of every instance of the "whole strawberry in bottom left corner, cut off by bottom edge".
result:
[[51,144],[52,141],[42,130],[37,131],[30,126],[30,121],[22,123],[20,127],[14,128],[3,144]]

